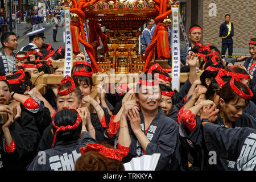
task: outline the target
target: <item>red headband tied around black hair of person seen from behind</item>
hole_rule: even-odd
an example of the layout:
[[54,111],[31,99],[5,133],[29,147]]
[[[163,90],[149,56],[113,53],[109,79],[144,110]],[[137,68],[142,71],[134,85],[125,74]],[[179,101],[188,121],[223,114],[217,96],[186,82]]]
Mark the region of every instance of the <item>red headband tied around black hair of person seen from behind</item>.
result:
[[[76,111],[75,109],[70,109],[70,110]],[[59,112],[59,111],[57,111],[57,113],[58,113],[58,112]],[[76,113],[77,113],[77,118],[76,118],[76,123],[75,123],[74,125],[72,125],[72,126],[71,126],[71,125],[67,125],[67,126],[56,126],[56,125],[55,125],[55,122],[54,122],[54,117],[55,117],[55,115],[56,115],[57,113],[55,113],[55,114],[53,115],[53,117],[52,117],[52,126],[55,127],[55,129],[57,129],[56,132],[55,132],[54,138],[53,138],[52,147],[54,147],[55,140],[56,140],[56,136],[57,136],[57,133],[58,133],[59,131],[75,130],[75,129],[80,125],[80,123],[81,123],[81,121],[82,121],[82,119],[81,119],[79,113],[77,113],[77,111],[76,111]]]

